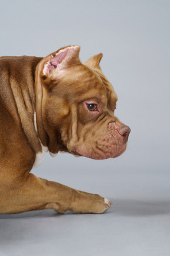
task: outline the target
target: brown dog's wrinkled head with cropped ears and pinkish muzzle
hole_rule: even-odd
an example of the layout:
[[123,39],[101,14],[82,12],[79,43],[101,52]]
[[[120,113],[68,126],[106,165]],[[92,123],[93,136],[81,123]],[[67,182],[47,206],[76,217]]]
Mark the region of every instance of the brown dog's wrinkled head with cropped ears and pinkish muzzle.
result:
[[37,66],[38,135],[52,154],[119,156],[130,128],[115,117],[117,96],[99,67],[102,53],[81,63],[79,52],[80,46],[64,47]]

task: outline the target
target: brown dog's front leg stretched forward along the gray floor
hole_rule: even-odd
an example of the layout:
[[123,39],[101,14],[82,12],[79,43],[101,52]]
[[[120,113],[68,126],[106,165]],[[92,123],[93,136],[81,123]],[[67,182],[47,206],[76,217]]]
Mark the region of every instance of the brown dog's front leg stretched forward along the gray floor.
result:
[[15,190],[1,194],[0,213],[20,213],[30,210],[54,209],[58,213],[67,210],[77,213],[103,213],[111,202],[97,194],[37,178],[30,174],[27,181]]

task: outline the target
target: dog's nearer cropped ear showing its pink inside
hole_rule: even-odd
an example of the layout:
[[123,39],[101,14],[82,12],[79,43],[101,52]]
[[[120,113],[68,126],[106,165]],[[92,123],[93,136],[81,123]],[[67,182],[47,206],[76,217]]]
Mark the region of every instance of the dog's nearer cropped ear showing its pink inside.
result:
[[53,76],[57,76],[69,66],[80,63],[79,52],[80,46],[67,46],[42,59],[42,79],[47,78],[47,76],[53,79]]

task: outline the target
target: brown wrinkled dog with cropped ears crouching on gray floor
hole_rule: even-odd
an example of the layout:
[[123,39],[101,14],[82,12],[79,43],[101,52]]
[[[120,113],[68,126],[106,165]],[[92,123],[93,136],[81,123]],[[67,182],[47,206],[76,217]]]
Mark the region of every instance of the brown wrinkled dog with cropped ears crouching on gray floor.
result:
[[37,178],[43,152],[115,158],[130,128],[114,116],[117,96],[99,68],[102,53],[86,63],[80,46],[41,57],[0,58],[0,213],[54,209],[103,213],[111,202]]

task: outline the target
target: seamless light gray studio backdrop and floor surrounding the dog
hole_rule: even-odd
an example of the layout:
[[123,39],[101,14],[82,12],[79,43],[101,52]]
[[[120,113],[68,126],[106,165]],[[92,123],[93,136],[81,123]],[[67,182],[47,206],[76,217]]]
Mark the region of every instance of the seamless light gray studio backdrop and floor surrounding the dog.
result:
[[70,44],[102,52],[132,129],[128,149],[94,161],[45,154],[38,177],[113,201],[104,215],[0,215],[0,255],[170,255],[169,0],[0,0],[2,55],[46,56]]

